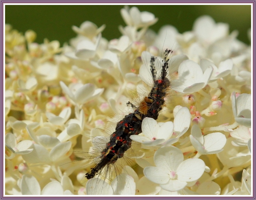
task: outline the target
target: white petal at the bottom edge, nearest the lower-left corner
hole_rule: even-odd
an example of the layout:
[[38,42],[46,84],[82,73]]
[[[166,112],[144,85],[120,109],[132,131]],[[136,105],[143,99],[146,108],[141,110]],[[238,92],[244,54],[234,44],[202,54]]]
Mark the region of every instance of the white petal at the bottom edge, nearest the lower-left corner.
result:
[[22,175],[20,186],[22,195],[40,195],[41,193],[40,185],[34,176]]

